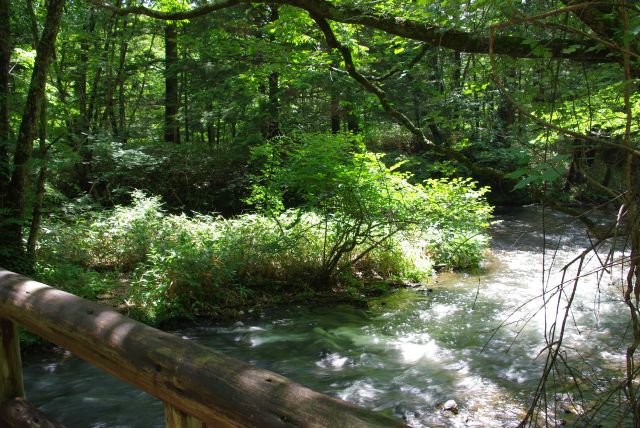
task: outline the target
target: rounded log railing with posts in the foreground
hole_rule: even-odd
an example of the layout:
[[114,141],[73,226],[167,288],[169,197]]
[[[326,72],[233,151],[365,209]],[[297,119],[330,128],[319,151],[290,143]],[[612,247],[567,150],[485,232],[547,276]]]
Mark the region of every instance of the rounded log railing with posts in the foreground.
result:
[[169,427],[405,426],[1,268],[0,404],[24,396],[16,324],[158,397]]

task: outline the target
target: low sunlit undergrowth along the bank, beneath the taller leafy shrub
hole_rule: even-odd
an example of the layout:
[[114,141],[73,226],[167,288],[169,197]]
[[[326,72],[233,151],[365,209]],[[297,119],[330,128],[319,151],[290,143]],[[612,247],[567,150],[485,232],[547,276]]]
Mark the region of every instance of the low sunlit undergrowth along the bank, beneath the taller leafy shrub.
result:
[[126,277],[123,297],[131,313],[157,322],[216,313],[262,296],[358,293],[366,291],[364,284],[421,281],[434,263],[477,264],[487,244],[481,230],[456,234],[434,223],[426,234],[395,234],[353,263],[372,244],[360,242],[343,255],[334,280],[318,285],[314,278],[336,229],[326,218],[299,210],[230,219],[170,215],[158,197],[135,192],[127,207],[48,220],[36,277],[93,299]]

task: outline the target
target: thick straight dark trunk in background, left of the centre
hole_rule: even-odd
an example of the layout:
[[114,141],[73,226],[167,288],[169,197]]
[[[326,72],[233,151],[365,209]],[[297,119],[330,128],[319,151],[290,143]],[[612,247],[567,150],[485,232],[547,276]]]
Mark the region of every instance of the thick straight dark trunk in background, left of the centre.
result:
[[164,27],[164,52],[165,52],[165,101],[164,101],[164,141],[167,143],[180,143],[180,128],[178,124],[178,29],[176,24],[167,24]]

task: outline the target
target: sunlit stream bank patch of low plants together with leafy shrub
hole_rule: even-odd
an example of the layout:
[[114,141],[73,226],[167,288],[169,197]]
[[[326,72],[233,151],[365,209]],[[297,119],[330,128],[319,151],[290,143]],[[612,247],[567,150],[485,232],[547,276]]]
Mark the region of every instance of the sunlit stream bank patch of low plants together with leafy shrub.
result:
[[278,138],[253,150],[254,212],[169,214],[135,191],[130,205],[48,220],[35,275],[89,298],[115,293],[129,313],[158,322],[296,294],[367,295],[424,282],[434,267],[477,267],[488,189],[457,178],[412,184],[398,166],[351,134]]

